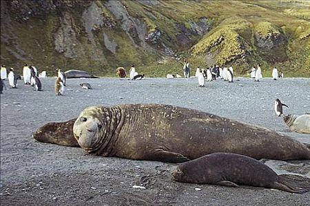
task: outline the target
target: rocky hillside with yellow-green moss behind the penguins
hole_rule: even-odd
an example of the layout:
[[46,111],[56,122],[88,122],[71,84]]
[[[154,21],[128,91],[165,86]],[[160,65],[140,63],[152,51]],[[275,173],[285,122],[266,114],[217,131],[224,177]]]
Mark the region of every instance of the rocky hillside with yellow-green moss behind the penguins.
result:
[[[288,11],[289,8],[293,10]],[[262,62],[310,76],[310,4],[265,1],[1,1],[1,64],[21,72],[82,69],[114,76],[137,65],[147,76]],[[298,13],[300,11],[300,14]]]

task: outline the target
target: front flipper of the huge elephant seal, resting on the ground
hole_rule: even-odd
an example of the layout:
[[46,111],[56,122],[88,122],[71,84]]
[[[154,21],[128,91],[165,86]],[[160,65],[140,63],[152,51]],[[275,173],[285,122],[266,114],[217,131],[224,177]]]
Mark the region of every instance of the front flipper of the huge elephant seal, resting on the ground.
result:
[[156,149],[152,155],[150,155],[151,160],[156,161],[165,161],[165,162],[172,162],[172,163],[180,163],[189,161],[187,157],[184,157],[180,153],[176,152],[168,152],[163,149]]

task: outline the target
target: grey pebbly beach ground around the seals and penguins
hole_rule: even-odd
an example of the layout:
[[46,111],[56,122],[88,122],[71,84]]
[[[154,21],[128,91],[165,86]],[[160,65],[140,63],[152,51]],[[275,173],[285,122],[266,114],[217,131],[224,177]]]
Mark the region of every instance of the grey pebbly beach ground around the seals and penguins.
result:
[[[4,205],[310,205],[309,192],[176,183],[170,179],[173,163],[95,157],[81,148],[43,144],[31,136],[39,126],[76,117],[87,106],[163,103],[265,126],[310,144],[309,135],[289,132],[273,113],[276,98],[289,105],[285,113],[309,113],[310,79],[236,78],[234,83],[207,82],[205,88],[198,87],[196,79],[70,79],[64,96],[54,95],[54,80],[41,79],[41,92],[19,81],[18,89],[1,95]],[[79,88],[81,82],[89,82],[94,89]],[[296,180],[310,183],[310,161],[267,164],[278,174],[299,174]]]

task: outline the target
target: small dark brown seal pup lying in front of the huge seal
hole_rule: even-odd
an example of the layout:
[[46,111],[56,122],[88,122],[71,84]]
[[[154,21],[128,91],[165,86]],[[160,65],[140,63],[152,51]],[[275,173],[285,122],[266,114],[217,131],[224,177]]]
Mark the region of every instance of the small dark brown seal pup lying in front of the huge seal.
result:
[[172,172],[172,179],[181,183],[227,187],[238,187],[237,184],[240,184],[293,193],[307,192],[256,159],[226,152],[216,152],[182,163]]

